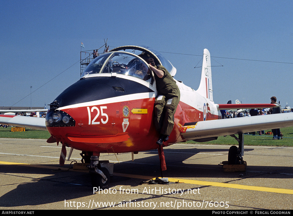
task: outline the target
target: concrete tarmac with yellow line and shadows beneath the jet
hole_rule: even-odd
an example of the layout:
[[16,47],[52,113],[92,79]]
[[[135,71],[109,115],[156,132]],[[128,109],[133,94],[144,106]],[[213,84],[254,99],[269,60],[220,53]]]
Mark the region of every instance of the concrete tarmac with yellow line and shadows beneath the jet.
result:
[[[59,170],[60,145],[0,138],[0,209],[292,210],[293,148],[245,146],[246,172],[224,172],[230,146],[173,144],[164,148],[168,185],[158,151],[101,154],[114,165],[110,189],[93,192],[88,171]],[[69,148],[67,149],[67,155]],[[79,151],[71,160],[80,162]],[[119,161],[119,162],[118,162]]]

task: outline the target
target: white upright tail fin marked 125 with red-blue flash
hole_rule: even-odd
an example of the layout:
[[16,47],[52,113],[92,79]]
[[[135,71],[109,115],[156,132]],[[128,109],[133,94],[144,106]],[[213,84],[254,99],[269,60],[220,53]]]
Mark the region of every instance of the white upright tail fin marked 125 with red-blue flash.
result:
[[203,50],[202,75],[197,92],[205,98],[213,101],[211,59],[209,50],[207,49]]

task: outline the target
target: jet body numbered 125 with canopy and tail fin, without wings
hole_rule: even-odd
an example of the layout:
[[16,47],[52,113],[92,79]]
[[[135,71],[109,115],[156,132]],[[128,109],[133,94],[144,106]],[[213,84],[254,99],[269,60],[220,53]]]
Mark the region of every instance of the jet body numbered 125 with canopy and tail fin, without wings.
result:
[[[176,74],[168,60],[148,47],[117,47],[95,58],[81,79],[50,104],[46,126],[57,143],[98,153],[157,149],[159,133],[153,119],[158,93],[153,72],[145,61],[149,57],[156,65],[166,67],[172,76]],[[173,131],[164,145],[186,141],[182,133],[191,127],[190,123],[221,116],[208,99],[212,98],[212,81],[209,55],[204,57],[200,93],[176,81],[180,102]]]

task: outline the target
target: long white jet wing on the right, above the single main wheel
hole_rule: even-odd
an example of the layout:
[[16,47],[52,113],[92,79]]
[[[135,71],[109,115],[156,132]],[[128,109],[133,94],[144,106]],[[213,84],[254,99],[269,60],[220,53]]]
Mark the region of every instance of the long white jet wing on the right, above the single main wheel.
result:
[[258,115],[185,123],[181,136],[186,140],[197,140],[290,126],[293,126],[293,113]]

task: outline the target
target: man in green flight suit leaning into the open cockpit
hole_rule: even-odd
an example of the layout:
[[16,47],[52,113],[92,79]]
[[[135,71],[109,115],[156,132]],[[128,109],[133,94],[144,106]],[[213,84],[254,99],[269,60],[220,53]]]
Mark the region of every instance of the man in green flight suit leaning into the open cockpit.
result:
[[154,59],[148,58],[146,62],[154,72],[156,79],[156,88],[158,96],[156,98],[155,109],[155,126],[160,132],[159,140],[156,142],[162,145],[169,139],[174,127],[174,114],[180,101],[179,88],[165,67],[155,65]]

